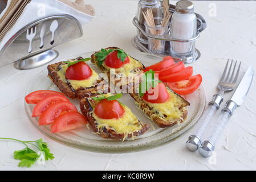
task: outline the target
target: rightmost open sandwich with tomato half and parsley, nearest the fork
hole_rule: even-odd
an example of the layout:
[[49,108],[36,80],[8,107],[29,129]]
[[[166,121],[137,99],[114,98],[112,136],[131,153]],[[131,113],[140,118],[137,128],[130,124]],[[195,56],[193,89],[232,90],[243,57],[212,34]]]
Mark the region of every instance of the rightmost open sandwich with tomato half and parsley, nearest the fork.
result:
[[[147,73],[154,74],[155,72],[151,70],[145,72],[145,75]],[[146,80],[150,79],[146,78]],[[143,87],[143,84],[137,88],[140,92],[129,94],[139,105],[139,108],[159,127],[173,126],[186,119],[188,114],[186,106],[189,105],[189,102],[170,90],[163,82],[155,81],[148,90],[144,89],[145,92],[141,92],[143,90],[141,86]]]

